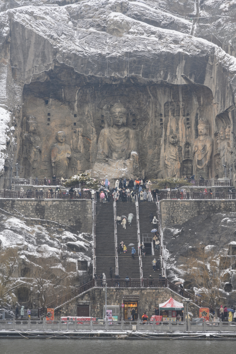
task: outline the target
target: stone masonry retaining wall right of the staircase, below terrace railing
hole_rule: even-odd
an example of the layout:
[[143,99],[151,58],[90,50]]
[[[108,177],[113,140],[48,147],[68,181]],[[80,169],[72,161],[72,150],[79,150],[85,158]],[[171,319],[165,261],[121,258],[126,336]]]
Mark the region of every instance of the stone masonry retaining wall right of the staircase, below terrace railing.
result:
[[213,215],[221,212],[235,212],[236,200],[161,200],[162,228],[183,224],[198,215]]

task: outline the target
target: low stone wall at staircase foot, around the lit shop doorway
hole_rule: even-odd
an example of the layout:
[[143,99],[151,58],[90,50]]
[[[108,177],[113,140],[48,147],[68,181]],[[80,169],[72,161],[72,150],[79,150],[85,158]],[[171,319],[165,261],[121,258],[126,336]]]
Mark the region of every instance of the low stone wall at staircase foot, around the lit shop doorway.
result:
[[[148,318],[150,319],[152,315],[155,315],[155,308],[158,307],[160,303],[167,301],[170,297],[179,302],[182,302],[182,297],[178,296],[168,288],[107,288],[107,305],[120,306],[120,314],[122,318],[122,295],[140,296],[140,300],[138,301],[138,312],[140,319],[142,318],[144,312],[146,312]],[[59,319],[61,316],[76,316],[77,305],[88,304],[90,305],[90,316],[103,318],[103,306],[105,305],[105,289],[92,288],[84,295],[78,297],[73,301],[70,301],[59,309],[56,309],[54,313],[55,319]],[[189,311],[194,315],[194,317],[199,316],[199,307],[197,307],[196,305],[189,305]]]

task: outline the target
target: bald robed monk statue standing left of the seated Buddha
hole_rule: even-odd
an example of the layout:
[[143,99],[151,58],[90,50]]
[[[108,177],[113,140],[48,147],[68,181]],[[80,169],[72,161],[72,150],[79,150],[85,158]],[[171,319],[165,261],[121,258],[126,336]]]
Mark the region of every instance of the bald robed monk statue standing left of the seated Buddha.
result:
[[68,178],[67,169],[71,159],[71,149],[65,144],[65,132],[58,132],[56,139],[57,143],[51,151],[52,172],[57,178]]

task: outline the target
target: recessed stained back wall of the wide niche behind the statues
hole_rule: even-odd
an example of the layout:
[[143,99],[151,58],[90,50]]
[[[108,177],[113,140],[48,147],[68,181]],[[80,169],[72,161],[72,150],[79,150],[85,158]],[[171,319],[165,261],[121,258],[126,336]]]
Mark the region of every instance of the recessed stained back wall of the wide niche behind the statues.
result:
[[[100,131],[109,126],[109,110],[116,102],[127,109],[126,125],[137,134],[140,176],[166,177],[164,154],[172,133],[178,138],[181,174],[183,161],[192,160],[198,117],[206,117],[210,124],[213,119],[213,97],[207,90],[202,85],[157,84],[142,78],[85,76],[55,63],[47,72],[33,75],[23,89],[23,134],[27,117],[34,116],[41,141],[38,178],[52,177],[50,153],[58,131],[65,131],[72,153],[67,177],[92,169]],[[18,159],[25,165],[22,155],[20,148]]]

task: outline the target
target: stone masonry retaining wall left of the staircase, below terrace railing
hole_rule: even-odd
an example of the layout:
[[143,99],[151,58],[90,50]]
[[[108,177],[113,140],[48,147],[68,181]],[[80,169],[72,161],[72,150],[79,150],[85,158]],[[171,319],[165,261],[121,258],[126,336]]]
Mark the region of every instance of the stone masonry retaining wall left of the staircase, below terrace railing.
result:
[[0,208],[29,218],[56,221],[74,227],[80,232],[92,233],[92,200],[32,200],[0,199]]

